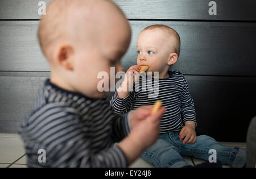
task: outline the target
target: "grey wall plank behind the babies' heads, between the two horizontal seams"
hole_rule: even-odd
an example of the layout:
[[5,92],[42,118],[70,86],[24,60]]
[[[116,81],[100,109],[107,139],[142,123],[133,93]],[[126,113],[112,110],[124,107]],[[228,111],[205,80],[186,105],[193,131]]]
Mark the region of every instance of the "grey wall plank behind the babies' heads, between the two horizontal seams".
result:
[[[166,24],[181,37],[181,52],[172,70],[184,74],[256,76],[256,23],[159,22],[130,20],[130,47],[125,70],[137,63],[137,36],[151,24]],[[0,71],[49,71],[40,51],[38,22],[0,22]]]

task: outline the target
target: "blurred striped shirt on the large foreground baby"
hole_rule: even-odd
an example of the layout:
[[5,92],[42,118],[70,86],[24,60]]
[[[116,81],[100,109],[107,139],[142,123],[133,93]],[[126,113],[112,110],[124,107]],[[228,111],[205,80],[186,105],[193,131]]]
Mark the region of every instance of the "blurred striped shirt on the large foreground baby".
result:
[[[53,85],[49,79],[22,120],[28,167],[126,167],[114,143],[130,131],[127,114],[113,113],[106,98],[92,99]],[[41,159],[46,152],[46,163]]]

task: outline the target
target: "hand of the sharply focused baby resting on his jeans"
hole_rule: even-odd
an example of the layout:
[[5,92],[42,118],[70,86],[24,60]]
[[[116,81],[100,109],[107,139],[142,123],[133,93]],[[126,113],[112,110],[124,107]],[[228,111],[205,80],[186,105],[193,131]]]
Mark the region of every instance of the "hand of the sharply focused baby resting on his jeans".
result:
[[195,131],[195,123],[191,121],[185,122],[185,126],[181,129],[179,134],[180,140],[183,140],[183,144],[193,144],[196,142],[196,131]]

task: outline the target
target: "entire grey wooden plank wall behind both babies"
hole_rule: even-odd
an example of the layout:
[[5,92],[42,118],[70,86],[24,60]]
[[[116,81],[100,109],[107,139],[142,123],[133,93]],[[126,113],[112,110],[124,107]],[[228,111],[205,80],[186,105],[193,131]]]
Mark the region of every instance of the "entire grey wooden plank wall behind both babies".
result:
[[[0,1],[0,132],[17,132],[50,74],[36,39],[38,2]],[[215,1],[217,15],[209,15],[207,0],[114,2],[133,30],[124,69],[136,64],[136,39],[144,27],[160,23],[174,28],[181,37],[181,54],[171,69],[188,81],[197,134],[245,141],[256,115],[256,1]]]

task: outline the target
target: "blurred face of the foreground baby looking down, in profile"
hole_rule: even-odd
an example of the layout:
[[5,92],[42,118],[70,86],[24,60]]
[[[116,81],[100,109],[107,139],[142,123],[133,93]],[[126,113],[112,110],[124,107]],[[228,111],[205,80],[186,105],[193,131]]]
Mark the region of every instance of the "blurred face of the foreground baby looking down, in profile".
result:
[[72,76],[72,85],[76,90],[92,98],[101,98],[106,94],[106,91],[98,89],[102,79],[104,84],[100,86],[108,85],[106,88],[110,91],[110,67],[115,67],[115,73],[123,70],[121,58],[129,47],[131,32],[130,27],[123,24],[122,27],[113,26],[104,30],[98,36],[95,43],[77,47]]

